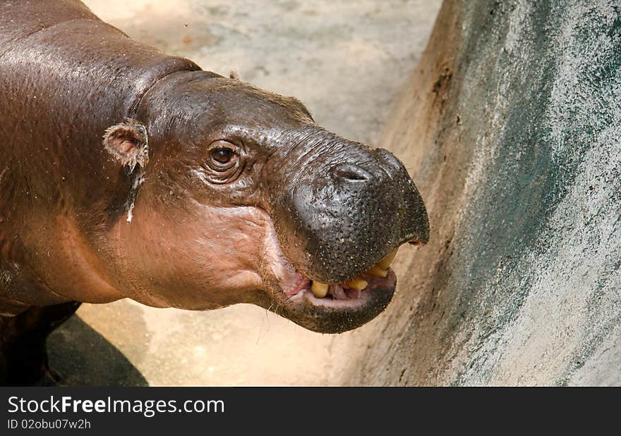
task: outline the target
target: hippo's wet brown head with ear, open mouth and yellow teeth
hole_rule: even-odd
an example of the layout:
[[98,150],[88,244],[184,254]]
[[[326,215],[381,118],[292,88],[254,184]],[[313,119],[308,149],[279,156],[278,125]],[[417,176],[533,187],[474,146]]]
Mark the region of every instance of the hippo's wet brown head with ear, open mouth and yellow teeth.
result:
[[428,240],[403,164],[322,129],[294,98],[175,73],[135,120],[104,143],[134,192],[117,214],[115,272],[145,304],[251,303],[343,332],[390,302],[397,248]]

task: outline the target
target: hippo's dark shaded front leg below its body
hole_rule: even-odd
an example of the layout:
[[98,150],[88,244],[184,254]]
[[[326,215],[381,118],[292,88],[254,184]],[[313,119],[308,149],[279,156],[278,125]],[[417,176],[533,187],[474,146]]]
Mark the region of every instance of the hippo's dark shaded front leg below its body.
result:
[[35,306],[18,316],[0,317],[0,385],[54,385],[45,341],[76,312],[80,303]]

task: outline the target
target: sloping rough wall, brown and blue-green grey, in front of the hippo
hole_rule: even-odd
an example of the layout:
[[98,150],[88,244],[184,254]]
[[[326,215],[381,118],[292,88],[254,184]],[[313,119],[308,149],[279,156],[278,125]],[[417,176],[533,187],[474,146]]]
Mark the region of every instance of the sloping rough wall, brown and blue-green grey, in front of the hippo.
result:
[[351,385],[621,385],[621,4],[445,1],[384,147],[430,243]]

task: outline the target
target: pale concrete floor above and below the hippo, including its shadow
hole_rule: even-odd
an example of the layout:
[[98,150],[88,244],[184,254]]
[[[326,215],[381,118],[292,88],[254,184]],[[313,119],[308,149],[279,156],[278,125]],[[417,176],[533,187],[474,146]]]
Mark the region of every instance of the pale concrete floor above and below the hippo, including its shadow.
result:
[[[135,39],[294,95],[319,124],[372,146],[440,7],[438,0],[85,3]],[[69,385],[340,385],[341,345],[365,347],[352,337],[378,325],[336,337],[255,306],[197,313],[117,301],[83,305],[49,348]]]

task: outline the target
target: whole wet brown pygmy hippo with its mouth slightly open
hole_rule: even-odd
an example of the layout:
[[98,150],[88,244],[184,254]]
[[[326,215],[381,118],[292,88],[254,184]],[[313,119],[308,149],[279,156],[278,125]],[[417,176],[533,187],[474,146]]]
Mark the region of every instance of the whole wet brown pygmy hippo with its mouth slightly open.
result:
[[426,208],[389,151],[133,41],[77,0],[0,3],[0,383],[58,382],[82,302],[249,303],[338,333],[389,304]]

